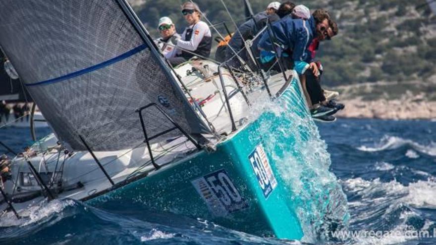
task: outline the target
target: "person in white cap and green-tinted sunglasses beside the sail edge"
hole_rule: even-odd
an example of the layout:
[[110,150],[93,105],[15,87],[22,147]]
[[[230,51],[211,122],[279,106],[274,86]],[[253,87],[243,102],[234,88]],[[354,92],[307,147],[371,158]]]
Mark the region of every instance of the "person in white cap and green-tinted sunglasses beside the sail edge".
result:
[[163,54],[165,58],[175,57],[177,54],[177,40],[180,39],[180,35],[175,31],[175,26],[172,20],[168,17],[162,17],[159,19],[158,25],[159,33],[161,38],[155,40],[159,51]]

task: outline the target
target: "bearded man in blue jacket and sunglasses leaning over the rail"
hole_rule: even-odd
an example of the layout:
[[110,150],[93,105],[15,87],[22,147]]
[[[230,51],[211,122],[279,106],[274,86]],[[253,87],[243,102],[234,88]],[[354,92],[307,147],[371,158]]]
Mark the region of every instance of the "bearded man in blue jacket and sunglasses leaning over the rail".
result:
[[[323,9],[315,10],[308,20],[293,19],[288,16],[276,21],[271,26],[272,30],[266,32],[259,41],[258,48],[261,50],[261,61],[263,63],[270,62],[275,57],[274,52],[288,61],[291,60],[293,69],[302,78],[303,87],[305,88],[305,76],[302,75],[306,71],[319,76],[318,66],[313,62],[308,47],[314,38],[318,38],[319,41],[331,39],[333,34],[330,24],[330,16]],[[307,93],[305,94],[307,95]],[[322,92],[317,94],[322,94]],[[335,112],[333,108],[327,107],[325,104],[327,101],[322,101],[321,98],[311,98],[308,102],[311,102],[311,112],[315,118],[321,117],[323,119]],[[327,119],[330,120],[331,118]]]

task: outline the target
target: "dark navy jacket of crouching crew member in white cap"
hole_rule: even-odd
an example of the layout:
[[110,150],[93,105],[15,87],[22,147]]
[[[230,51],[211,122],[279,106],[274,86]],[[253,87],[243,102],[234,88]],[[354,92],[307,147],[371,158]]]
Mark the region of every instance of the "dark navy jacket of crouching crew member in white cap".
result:
[[[238,30],[233,34],[232,38],[228,42],[228,45],[236,52],[239,52],[245,47],[244,40],[253,39],[256,34],[267,25],[268,21],[274,22],[278,19],[280,19],[278,15],[268,15],[266,11],[254,15],[253,18],[247,20],[238,27]],[[255,44],[257,44],[257,42],[258,40],[255,41]],[[233,50],[226,49],[225,57],[227,60],[234,55],[235,53],[233,52]],[[244,60],[247,58],[245,52],[239,53],[239,56]]]

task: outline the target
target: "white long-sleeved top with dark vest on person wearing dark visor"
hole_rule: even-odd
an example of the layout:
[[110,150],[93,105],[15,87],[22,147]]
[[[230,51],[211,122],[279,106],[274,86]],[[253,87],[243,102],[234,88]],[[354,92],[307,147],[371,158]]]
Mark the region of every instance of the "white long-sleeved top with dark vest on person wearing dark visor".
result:
[[[186,27],[182,33],[182,38],[177,41],[177,47],[189,50],[203,57],[209,57],[212,49],[212,34],[208,24],[200,20],[196,24]],[[190,59],[195,54],[182,50],[179,56]]]

